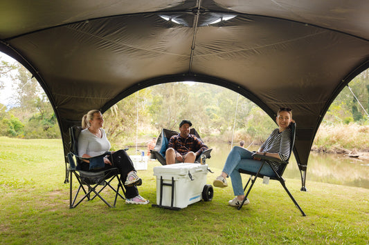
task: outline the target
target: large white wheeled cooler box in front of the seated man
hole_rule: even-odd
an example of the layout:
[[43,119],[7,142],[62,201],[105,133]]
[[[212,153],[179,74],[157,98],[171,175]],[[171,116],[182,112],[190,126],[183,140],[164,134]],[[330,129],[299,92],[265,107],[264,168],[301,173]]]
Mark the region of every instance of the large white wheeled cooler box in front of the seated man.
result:
[[203,198],[207,174],[207,164],[184,163],[154,167],[156,206],[180,209],[199,202]]

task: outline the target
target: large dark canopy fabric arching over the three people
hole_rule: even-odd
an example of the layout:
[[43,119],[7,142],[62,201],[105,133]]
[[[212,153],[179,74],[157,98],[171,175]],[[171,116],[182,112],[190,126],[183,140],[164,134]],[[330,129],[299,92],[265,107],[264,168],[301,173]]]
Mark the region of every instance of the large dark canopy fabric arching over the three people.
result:
[[239,92],[271,117],[294,108],[305,171],[330,104],[369,67],[367,0],[8,0],[0,51],[42,85],[62,130],[155,84]]

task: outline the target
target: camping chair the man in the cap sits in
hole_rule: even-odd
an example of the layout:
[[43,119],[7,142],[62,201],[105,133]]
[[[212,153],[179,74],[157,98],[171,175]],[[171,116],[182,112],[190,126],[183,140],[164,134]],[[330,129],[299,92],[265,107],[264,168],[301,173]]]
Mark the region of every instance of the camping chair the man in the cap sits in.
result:
[[[168,149],[168,143],[169,143],[170,137],[172,137],[173,135],[178,135],[178,134],[179,133],[176,131],[163,128],[163,130],[161,130],[161,133],[156,141],[156,145],[154,149],[150,150],[150,153],[154,155],[153,158],[158,159],[161,165],[166,165],[165,151]],[[195,135],[197,138],[199,138],[202,141],[201,137],[199,136],[195,128],[190,129],[190,134]],[[206,158],[211,157],[210,156],[211,150],[213,149],[204,150],[204,152],[201,153],[201,155],[199,155],[196,158],[195,163],[199,164],[200,162],[202,162],[202,164],[205,164]]]

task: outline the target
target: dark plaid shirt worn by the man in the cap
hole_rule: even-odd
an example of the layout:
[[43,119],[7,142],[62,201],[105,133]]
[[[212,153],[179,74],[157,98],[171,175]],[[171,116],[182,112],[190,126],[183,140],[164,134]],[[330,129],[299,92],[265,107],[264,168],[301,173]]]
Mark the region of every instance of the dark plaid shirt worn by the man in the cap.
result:
[[204,150],[208,150],[208,146],[195,135],[188,135],[187,138],[181,137],[181,134],[170,137],[168,148],[173,148],[175,153],[186,155],[192,151],[200,155]]

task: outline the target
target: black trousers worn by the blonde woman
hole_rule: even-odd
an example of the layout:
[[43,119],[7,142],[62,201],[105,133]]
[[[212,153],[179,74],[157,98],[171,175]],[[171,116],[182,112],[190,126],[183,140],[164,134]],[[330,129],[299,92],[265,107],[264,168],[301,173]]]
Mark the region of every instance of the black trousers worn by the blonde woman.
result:
[[[109,161],[111,162],[111,166],[109,164],[105,164],[104,168],[100,168],[99,170],[88,170],[89,164],[82,164],[85,165],[84,168],[87,167],[87,171],[98,172],[102,170],[107,170],[109,168],[118,168],[120,173],[120,180],[122,181],[123,185],[125,184],[125,180],[127,179],[127,175],[131,171],[136,171],[134,169],[133,162],[129,155],[125,152],[125,150],[117,150],[111,156],[109,156]],[[125,186],[125,197],[131,199],[138,195],[138,189],[136,186]]]

